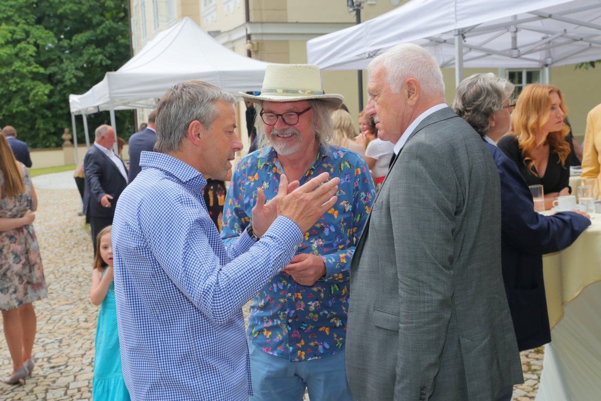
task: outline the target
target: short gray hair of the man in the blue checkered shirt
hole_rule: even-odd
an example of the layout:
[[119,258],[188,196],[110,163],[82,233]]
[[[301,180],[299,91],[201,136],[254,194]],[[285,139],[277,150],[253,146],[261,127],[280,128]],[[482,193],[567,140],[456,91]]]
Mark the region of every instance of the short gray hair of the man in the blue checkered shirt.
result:
[[216,102],[236,105],[234,96],[215,85],[198,79],[180,82],[169,88],[156,107],[156,144],[154,152],[179,150],[192,121],[209,130],[219,118]]

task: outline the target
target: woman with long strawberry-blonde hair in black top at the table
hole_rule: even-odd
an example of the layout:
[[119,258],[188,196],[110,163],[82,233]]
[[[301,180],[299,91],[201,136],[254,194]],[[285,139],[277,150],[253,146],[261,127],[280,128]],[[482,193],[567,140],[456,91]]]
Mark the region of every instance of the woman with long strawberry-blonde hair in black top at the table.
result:
[[559,88],[528,85],[511,113],[511,132],[498,142],[528,185],[543,185],[545,209],[551,209],[558,196],[570,193],[566,114]]

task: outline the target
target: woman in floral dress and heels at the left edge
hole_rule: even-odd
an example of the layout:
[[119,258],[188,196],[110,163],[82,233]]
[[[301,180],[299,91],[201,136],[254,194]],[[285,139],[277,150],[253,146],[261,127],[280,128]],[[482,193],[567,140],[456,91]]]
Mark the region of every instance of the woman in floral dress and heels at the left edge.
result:
[[25,382],[34,369],[37,319],[31,302],[46,298],[46,281],[34,228],[37,197],[29,171],[0,135],[0,310],[13,373],[4,382]]

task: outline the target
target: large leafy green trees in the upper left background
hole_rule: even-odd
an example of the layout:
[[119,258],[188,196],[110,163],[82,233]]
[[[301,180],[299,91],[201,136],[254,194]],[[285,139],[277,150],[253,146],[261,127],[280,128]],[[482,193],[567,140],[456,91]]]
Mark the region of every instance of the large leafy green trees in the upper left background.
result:
[[[130,58],[127,7],[123,0],[1,0],[0,125],[13,125],[30,147],[60,145],[71,127],[69,94],[84,93]],[[102,112],[88,126],[109,121]],[[133,112],[117,112],[119,135],[133,130]]]

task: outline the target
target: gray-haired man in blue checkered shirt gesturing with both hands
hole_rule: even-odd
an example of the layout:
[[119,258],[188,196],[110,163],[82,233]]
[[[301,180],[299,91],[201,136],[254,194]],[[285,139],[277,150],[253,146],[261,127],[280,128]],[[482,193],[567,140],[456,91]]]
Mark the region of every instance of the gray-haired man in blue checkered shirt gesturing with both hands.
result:
[[[251,227],[224,246],[203,201],[242,149],[234,97],[202,81],[166,91],[156,152],[142,152],[112,228],[123,376],[133,400],[247,400],[241,307],[296,254],[302,233],[337,200],[328,174],[258,194]],[[297,188],[298,187],[298,188]],[[260,240],[259,240],[260,237]]]

